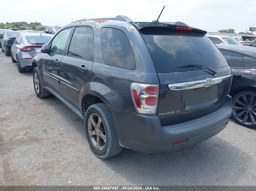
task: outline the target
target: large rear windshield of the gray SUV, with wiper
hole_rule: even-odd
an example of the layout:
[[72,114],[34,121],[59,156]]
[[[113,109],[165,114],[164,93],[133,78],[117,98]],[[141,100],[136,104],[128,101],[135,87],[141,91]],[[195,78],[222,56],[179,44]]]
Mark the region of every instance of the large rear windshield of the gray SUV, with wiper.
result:
[[157,29],[141,34],[158,73],[206,69],[176,67],[184,64],[202,64],[208,68],[228,66],[224,56],[204,34]]

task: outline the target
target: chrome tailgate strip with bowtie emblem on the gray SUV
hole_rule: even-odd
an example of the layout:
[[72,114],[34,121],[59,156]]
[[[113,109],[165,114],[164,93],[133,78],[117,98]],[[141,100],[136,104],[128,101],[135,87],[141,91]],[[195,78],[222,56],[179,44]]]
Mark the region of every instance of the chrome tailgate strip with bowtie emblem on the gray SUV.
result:
[[168,87],[170,90],[189,90],[194,88],[202,88],[202,87],[210,87],[213,84],[221,83],[222,81],[226,81],[225,79],[231,79],[232,75],[226,75],[218,78],[206,78],[205,80],[198,81],[188,81],[177,84],[169,84]]

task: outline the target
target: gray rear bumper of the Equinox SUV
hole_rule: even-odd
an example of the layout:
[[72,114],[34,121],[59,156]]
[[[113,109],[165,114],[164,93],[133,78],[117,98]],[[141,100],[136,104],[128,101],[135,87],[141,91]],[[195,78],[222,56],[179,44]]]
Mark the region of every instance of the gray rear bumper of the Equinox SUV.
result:
[[[184,123],[161,126],[156,115],[143,115],[108,105],[119,144],[146,154],[170,153],[198,144],[222,131],[232,114],[231,97],[213,113]],[[186,142],[173,144],[187,139]]]

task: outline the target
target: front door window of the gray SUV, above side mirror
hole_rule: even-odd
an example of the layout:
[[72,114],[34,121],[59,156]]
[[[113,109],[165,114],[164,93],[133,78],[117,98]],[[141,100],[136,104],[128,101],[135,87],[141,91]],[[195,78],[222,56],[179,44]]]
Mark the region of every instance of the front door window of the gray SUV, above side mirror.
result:
[[64,49],[68,41],[68,37],[71,30],[72,30],[71,28],[62,30],[55,36],[55,38],[52,40],[50,53],[55,53],[55,54],[64,53]]

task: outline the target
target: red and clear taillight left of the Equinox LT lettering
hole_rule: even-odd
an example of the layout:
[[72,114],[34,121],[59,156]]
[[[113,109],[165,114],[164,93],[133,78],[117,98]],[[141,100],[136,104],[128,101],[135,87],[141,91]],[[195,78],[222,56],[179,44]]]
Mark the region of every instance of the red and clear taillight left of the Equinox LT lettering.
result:
[[131,94],[138,113],[155,114],[158,104],[159,85],[131,83]]

